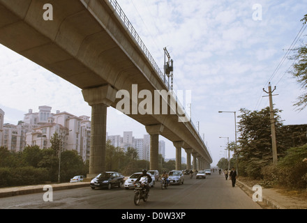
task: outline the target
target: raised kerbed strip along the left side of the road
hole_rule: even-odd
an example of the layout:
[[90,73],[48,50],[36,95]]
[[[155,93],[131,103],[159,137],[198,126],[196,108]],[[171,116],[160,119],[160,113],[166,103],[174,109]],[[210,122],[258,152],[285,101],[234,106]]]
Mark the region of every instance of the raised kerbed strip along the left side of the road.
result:
[[[51,185],[53,191],[57,190],[68,190],[77,187],[89,187],[89,182],[77,182],[77,183],[52,183],[45,184]],[[47,190],[43,190],[45,185],[31,185],[31,186],[20,186],[20,187],[3,187],[0,188],[0,198],[1,197],[12,197],[23,194],[34,194],[43,193]]]

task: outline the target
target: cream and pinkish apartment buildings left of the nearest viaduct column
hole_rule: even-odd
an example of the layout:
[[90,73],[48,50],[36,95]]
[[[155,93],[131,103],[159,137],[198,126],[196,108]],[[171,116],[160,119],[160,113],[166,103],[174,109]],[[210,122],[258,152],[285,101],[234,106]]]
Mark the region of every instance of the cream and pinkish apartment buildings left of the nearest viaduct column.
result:
[[38,107],[38,112],[29,109],[17,125],[3,124],[4,112],[0,109],[0,146],[15,152],[23,151],[27,145],[50,148],[50,140],[57,132],[63,142],[63,151],[75,150],[84,161],[89,159],[89,116],[77,117],[59,110],[53,114],[51,109],[46,105]]

